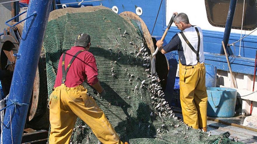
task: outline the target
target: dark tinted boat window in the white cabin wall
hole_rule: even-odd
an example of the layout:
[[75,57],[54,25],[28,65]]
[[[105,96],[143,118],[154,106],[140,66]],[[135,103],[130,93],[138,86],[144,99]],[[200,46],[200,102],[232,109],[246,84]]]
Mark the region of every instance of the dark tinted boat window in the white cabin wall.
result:
[[[230,0],[205,0],[208,21],[211,25],[225,27]],[[232,29],[241,29],[244,0],[237,0]],[[245,0],[243,30],[253,30],[257,26],[256,0]]]

